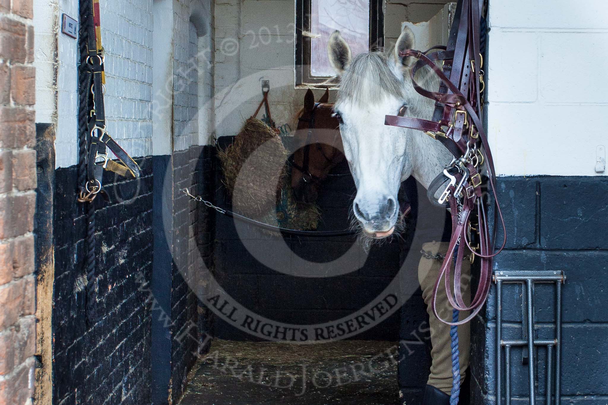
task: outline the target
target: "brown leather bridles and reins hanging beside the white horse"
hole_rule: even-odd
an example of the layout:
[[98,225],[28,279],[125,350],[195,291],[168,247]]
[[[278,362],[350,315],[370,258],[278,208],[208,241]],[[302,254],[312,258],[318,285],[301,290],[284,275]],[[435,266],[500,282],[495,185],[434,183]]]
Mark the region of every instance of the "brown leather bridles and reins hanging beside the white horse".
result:
[[[496,195],[494,161],[488,145],[488,137],[480,116],[483,113],[484,91],[483,58],[480,51],[480,21],[483,0],[458,1],[454,24],[447,47],[437,46],[426,52],[409,49],[399,55],[416,58],[412,67],[413,87],[424,97],[435,100],[433,120],[387,115],[385,124],[423,131],[440,141],[454,155],[454,160],[429,186],[429,197],[445,185],[438,203],[447,201],[452,215],[452,237],[440,274],[435,282],[432,308],[435,316],[449,325],[461,325],[471,321],[482,309],[488,298],[492,278],[492,258],[506,244],[505,222]],[[431,52],[434,51],[434,52]],[[443,70],[435,62],[443,62]],[[418,70],[430,67],[440,78],[438,92],[421,87],[415,81]],[[494,233],[490,235],[488,217],[483,202],[482,171],[488,174],[488,189],[494,209]],[[504,230],[503,243],[496,253],[494,241],[498,219]],[[475,222],[477,220],[477,222]],[[475,242],[474,242],[475,240]],[[465,250],[471,252],[471,260],[480,259],[480,276],[477,291],[466,304],[461,292],[461,269]],[[452,270],[452,261],[455,266]],[[452,271],[454,284],[451,285]],[[443,279],[443,286],[441,286]],[[447,298],[455,310],[471,311],[459,322],[441,319],[437,313],[437,294],[445,288]]]

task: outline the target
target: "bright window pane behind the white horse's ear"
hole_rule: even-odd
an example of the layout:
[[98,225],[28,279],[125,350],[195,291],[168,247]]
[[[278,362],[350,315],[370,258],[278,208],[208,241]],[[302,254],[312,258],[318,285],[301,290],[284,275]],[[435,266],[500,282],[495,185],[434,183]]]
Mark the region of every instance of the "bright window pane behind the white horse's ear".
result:
[[353,56],[369,52],[369,0],[311,0],[311,75],[336,74],[327,56],[327,41],[335,30],[342,33]]

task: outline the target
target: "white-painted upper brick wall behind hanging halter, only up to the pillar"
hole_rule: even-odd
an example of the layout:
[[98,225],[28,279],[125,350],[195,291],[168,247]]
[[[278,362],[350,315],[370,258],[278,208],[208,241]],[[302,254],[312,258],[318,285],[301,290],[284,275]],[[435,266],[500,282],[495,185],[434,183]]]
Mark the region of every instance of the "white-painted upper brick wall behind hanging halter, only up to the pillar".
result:
[[[152,152],[152,2],[101,2],[108,130],[133,157]],[[72,166],[78,162],[78,43],[59,30],[62,13],[78,19],[78,2],[34,0],[34,6],[36,122],[55,123],[55,165]]]

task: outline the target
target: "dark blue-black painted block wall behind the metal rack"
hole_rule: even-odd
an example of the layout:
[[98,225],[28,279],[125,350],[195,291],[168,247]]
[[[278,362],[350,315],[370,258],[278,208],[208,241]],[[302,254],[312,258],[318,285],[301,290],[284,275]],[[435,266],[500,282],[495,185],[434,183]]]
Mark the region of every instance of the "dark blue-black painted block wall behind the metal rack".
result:
[[[494,270],[564,271],[562,289],[562,404],[608,403],[608,179],[605,177],[503,177],[499,201],[505,214],[507,250]],[[500,227],[499,227],[500,229]],[[496,296],[474,324],[474,395],[496,403]],[[521,287],[503,287],[504,336],[521,338]],[[554,291],[536,287],[537,336],[552,338]],[[539,350],[539,389],[544,393],[545,350]],[[512,354],[513,403],[527,404],[527,366]]]

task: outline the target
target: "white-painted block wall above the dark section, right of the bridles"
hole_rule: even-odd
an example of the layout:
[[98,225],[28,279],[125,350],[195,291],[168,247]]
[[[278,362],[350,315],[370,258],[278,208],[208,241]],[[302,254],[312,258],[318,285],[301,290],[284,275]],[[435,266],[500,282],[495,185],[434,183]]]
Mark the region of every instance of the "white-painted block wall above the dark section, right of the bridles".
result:
[[596,146],[608,146],[608,2],[491,0],[489,24],[497,173],[598,175]]

